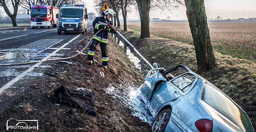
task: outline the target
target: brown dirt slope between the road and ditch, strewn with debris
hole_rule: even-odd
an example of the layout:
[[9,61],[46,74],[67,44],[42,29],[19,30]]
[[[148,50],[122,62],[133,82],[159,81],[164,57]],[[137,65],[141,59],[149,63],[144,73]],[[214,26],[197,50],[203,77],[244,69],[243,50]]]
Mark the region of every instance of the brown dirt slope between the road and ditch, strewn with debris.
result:
[[[67,55],[75,54],[77,49],[81,50],[92,36],[92,31],[82,38],[78,45],[71,49]],[[80,54],[68,61],[78,62],[82,67],[56,62],[47,72],[58,75],[53,77],[44,75],[34,84],[25,90],[19,98],[6,108],[1,116],[1,131],[6,130],[6,120],[16,118],[20,120],[37,119],[39,131],[122,131],[122,132],[146,132],[150,131],[148,123],[132,116],[127,108],[115,100],[105,89],[110,85],[117,85],[122,82],[129,82],[139,86],[142,75],[136,70],[122,49],[116,44],[112,37],[109,39],[108,54],[110,65],[107,70],[101,67],[101,53],[98,52],[94,62],[87,65],[86,55]],[[84,51],[87,53],[88,49]],[[61,72],[66,71],[65,74]],[[104,72],[103,78],[99,73]],[[53,90],[64,85],[68,89],[87,88],[95,93],[97,115],[87,116],[78,112],[78,115],[69,114],[71,107],[57,102]],[[24,107],[18,107],[22,104]],[[60,104],[60,105],[58,105]]]

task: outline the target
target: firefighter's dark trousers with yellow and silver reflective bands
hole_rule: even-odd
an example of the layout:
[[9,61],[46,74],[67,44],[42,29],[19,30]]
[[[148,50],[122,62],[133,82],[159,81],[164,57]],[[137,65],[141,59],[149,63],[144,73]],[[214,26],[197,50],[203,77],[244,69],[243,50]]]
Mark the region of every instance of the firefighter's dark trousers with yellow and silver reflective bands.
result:
[[93,56],[95,54],[96,46],[98,44],[100,45],[100,50],[101,50],[102,66],[107,66],[108,65],[108,60],[109,60],[108,59],[108,53],[107,53],[107,43],[102,43],[102,42],[99,42],[95,39],[91,40],[87,60],[93,60]]

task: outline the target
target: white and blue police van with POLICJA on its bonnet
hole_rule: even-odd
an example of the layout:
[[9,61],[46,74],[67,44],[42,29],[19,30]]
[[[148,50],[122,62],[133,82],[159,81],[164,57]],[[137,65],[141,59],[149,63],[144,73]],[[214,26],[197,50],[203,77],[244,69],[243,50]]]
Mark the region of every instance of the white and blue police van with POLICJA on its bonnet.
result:
[[84,5],[63,4],[56,14],[58,34],[64,32],[87,32],[88,15]]

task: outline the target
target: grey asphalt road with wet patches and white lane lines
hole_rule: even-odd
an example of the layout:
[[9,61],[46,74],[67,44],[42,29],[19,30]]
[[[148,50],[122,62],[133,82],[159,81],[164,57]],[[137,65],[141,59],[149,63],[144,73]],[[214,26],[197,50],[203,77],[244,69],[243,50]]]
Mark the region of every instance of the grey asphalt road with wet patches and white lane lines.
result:
[[[92,30],[88,23],[88,31]],[[0,52],[7,57],[0,58],[0,64],[20,63],[42,59],[60,58],[84,35],[81,33],[57,33],[51,29],[10,29],[0,31]],[[44,71],[55,62],[32,63],[29,65],[0,66],[0,112],[10,102],[34,84]]]

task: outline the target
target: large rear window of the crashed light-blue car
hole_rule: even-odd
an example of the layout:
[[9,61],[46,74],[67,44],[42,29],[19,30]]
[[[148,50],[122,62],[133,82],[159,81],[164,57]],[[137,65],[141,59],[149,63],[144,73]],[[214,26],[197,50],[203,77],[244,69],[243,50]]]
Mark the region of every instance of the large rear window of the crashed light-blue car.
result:
[[253,132],[251,122],[245,112],[218,89],[205,83],[201,99],[241,129]]

